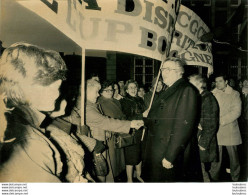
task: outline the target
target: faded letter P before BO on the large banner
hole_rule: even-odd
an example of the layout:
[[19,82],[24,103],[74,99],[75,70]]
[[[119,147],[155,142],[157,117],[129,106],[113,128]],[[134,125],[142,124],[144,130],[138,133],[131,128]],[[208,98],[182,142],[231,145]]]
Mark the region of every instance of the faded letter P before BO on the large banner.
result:
[[[107,37],[105,41],[115,42],[117,41],[116,35],[119,34],[131,34],[133,27],[126,22],[120,22],[116,20],[106,20],[108,24]],[[120,28],[118,28],[120,27]]]

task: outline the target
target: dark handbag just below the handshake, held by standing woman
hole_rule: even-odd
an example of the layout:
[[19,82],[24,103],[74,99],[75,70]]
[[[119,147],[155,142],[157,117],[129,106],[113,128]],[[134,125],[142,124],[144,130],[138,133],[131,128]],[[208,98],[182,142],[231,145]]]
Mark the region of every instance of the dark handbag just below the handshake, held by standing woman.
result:
[[124,148],[134,145],[135,143],[136,141],[133,134],[116,133],[114,136],[115,148]]

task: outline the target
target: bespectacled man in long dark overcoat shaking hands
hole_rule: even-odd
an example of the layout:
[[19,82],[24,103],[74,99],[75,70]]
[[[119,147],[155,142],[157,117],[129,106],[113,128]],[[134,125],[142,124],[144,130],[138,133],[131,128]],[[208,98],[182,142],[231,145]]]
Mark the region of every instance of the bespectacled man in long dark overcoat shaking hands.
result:
[[161,66],[168,86],[148,114],[142,178],[146,182],[202,181],[197,145],[197,91],[182,75],[185,62],[167,58]]

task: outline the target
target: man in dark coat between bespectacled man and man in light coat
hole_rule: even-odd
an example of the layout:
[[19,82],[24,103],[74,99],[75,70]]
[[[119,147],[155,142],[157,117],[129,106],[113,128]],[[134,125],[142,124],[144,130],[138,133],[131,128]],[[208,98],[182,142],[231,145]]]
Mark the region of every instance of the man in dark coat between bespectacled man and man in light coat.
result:
[[196,87],[201,96],[201,113],[198,125],[198,146],[204,182],[210,182],[211,162],[218,161],[217,131],[219,128],[219,105],[214,95],[204,89],[205,83],[200,74],[193,74],[189,82]]

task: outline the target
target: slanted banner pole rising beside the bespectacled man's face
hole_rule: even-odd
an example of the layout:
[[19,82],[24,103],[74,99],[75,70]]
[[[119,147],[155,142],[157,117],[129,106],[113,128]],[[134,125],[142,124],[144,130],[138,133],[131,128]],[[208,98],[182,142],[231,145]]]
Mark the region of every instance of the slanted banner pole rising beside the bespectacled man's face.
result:
[[[176,0],[177,1],[177,0]],[[175,1],[175,2],[176,2]],[[174,28],[173,28],[173,31],[171,33],[171,40],[169,42],[169,45],[168,45],[168,49],[166,51],[166,58],[169,56],[170,54],[170,48],[171,48],[171,44],[172,44],[172,40],[173,40],[173,35],[174,35],[174,32],[175,32],[175,29],[176,29],[176,21],[177,21],[177,16],[179,14],[179,10],[180,10],[180,6],[181,6],[181,0],[178,0],[178,3],[179,3],[179,6],[178,6],[178,10],[176,10],[176,18],[175,18],[175,24],[174,24]],[[177,9],[177,8],[175,8]],[[152,92],[152,97],[151,97],[151,100],[150,100],[150,104],[149,104],[149,107],[148,107],[148,113],[150,112],[150,109],[152,107],[152,102],[153,102],[153,99],[154,99],[154,95],[155,95],[155,92],[156,92],[156,88],[157,88],[157,84],[158,84],[158,81],[159,81],[159,77],[161,75],[161,71],[160,71],[160,68],[162,67],[162,64],[163,64],[163,56],[162,56],[162,60],[161,60],[161,64],[159,66],[159,71],[158,71],[158,75],[157,75],[157,79],[156,79],[156,83],[154,84],[154,89],[153,89],[153,92]],[[147,114],[148,115],[148,114]]]

